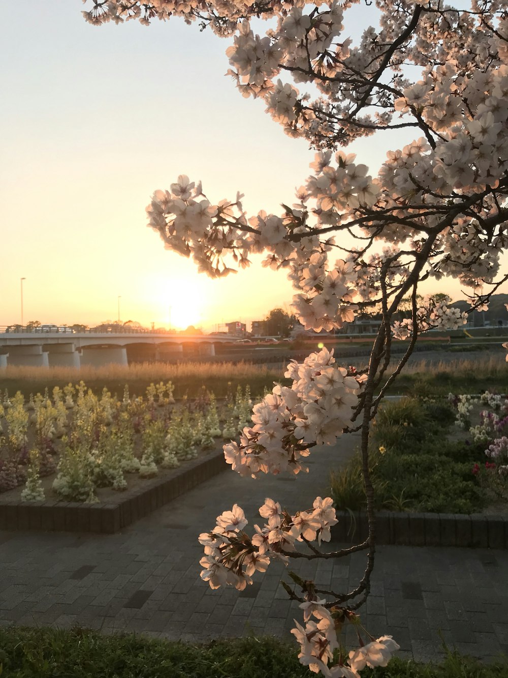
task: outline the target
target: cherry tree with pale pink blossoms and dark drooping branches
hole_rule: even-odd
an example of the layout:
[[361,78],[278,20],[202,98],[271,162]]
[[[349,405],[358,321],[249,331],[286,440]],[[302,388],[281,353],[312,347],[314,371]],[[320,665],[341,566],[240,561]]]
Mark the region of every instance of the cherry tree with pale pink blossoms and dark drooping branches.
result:
[[[391,637],[366,637],[356,615],[375,555],[369,429],[417,338],[467,319],[446,296],[421,297],[419,285],[453,277],[467,290],[470,308],[484,310],[508,279],[500,266],[508,239],[505,0],[462,0],[459,7],[365,1],[364,32],[354,44],[343,21],[360,1],[85,0],[83,13],[92,24],[180,16],[211,28],[230,42],[228,73],[240,94],[263,99],[286,134],[316,149],[312,174],[280,214],[249,216],[239,194],[211,201],[187,176],[155,191],[148,221],[167,249],[192,257],[211,277],[245,268],[249,256],[265,252],[266,266],[286,269],[297,292],[295,315],[307,330],[332,330],[381,309],[367,370],[341,367],[326,350],[292,361],[291,388],[276,386],[255,405],[253,425],[224,450],[242,475],[299,473],[313,445],[361,431],[368,538],[324,550],[336,518],[331,499],[320,497],[295,515],[267,498],[259,509],[266,523],[255,525],[253,536],[235,504],[200,536],[202,576],[213,588],[242,589],[274,558],[287,563],[366,551],[366,570],[352,591],[318,590],[295,574],[285,584],[303,610],[304,626],[296,622],[293,629],[301,662],[334,678],[384,666],[397,648]],[[259,18],[267,21],[264,35],[255,33]],[[377,176],[337,150],[389,129],[414,130],[415,138],[389,151]],[[410,317],[398,320],[407,298]],[[404,339],[406,351],[392,370],[392,342]],[[339,643],[346,623],[356,625],[359,639],[349,657]]]

